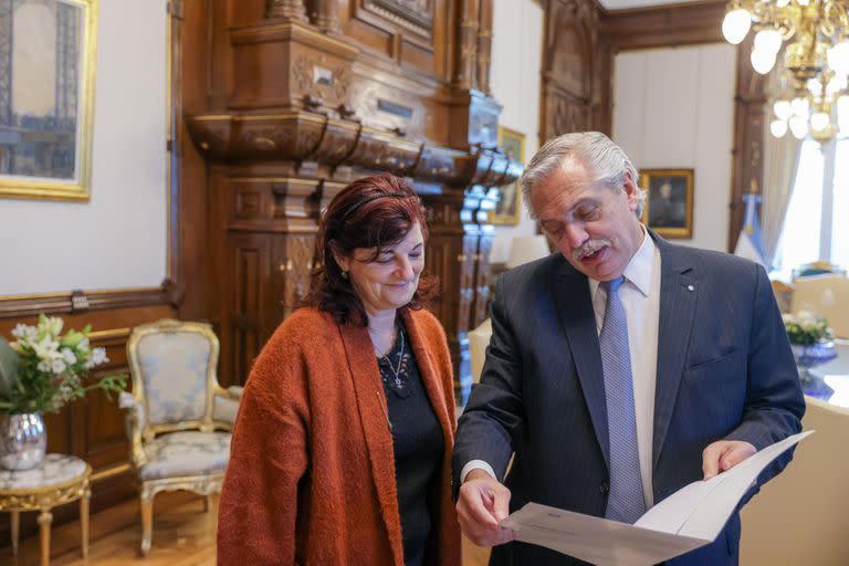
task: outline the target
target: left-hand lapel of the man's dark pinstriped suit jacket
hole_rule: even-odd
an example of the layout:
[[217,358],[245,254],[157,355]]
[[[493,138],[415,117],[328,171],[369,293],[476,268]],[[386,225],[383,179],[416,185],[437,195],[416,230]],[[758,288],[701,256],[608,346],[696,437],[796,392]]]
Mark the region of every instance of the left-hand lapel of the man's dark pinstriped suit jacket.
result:
[[584,398],[593,420],[596,438],[609,467],[609,437],[607,431],[607,403],[605,401],[605,380],[601,370],[601,350],[598,345],[596,315],[589,296],[586,275],[564,261],[557,279],[559,289],[555,290],[560,323],[575,360]]

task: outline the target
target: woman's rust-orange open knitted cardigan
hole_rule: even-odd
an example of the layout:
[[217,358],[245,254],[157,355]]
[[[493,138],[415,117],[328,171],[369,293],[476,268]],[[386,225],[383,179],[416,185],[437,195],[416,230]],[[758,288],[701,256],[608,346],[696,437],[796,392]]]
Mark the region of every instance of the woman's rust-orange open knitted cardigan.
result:
[[[430,313],[401,313],[446,439],[433,564],[459,565],[446,335]],[[403,566],[387,415],[366,328],[312,307],[286,318],[244,389],[221,493],[218,564]]]

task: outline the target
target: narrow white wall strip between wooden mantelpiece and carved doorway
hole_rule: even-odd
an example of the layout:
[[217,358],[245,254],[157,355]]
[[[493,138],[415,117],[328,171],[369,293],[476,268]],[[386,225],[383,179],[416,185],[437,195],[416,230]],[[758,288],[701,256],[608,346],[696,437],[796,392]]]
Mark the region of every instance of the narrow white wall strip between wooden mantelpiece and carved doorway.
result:
[[[495,99],[504,105],[500,124],[526,135],[525,161],[528,161],[539,138],[543,8],[535,0],[497,0],[493,4],[490,86]],[[513,237],[534,233],[536,223],[525,209],[518,226],[496,227],[490,261],[505,262]]]

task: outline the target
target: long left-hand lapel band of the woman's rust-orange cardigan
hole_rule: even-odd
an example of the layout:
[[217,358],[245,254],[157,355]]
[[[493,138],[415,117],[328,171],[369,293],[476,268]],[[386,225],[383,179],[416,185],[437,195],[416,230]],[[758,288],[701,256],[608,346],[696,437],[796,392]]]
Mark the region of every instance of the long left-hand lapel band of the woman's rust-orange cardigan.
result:
[[366,437],[381,515],[389,533],[389,543],[396,564],[403,564],[398,489],[395,479],[395,447],[374,347],[365,327],[339,325],[339,334],[350,369],[350,378],[354,381],[354,392]]

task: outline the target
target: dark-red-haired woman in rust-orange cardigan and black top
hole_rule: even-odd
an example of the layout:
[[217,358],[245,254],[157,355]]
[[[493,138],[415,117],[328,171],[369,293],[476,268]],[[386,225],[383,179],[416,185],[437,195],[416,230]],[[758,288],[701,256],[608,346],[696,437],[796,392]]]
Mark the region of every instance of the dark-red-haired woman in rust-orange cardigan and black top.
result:
[[221,493],[218,564],[459,565],[454,400],[423,311],[424,209],[401,179],[360,179],[322,217],[310,306],[248,379]]

